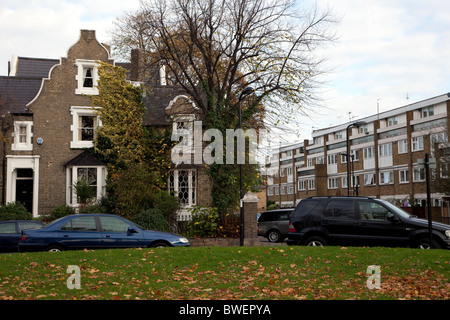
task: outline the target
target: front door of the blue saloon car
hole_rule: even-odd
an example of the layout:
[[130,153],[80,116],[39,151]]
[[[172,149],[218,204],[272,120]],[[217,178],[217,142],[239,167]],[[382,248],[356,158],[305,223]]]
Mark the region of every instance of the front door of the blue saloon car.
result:
[[[99,216],[102,230],[102,247],[104,248],[132,248],[143,245],[141,230],[118,217]],[[130,228],[134,229],[130,232]]]

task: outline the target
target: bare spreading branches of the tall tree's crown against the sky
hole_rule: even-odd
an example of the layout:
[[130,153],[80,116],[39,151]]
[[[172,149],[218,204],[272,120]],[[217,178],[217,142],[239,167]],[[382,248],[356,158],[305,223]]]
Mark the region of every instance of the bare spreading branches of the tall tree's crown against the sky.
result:
[[118,52],[141,48],[148,64],[165,65],[204,114],[236,115],[239,92],[252,86],[243,122],[271,126],[317,98],[316,49],[334,39],[335,22],[329,10],[304,12],[293,0],[143,0],[116,21],[113,39]]

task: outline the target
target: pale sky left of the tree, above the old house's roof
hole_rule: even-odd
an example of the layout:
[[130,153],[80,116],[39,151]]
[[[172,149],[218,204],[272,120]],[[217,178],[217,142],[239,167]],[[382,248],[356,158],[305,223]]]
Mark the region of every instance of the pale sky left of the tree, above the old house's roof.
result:
[[0,75],[8,73],[12,55],[60,58],[79,38],[80,29],[96,30],[109,42],[109,30],[124,11],[139,0],[2,0],[0,2]]

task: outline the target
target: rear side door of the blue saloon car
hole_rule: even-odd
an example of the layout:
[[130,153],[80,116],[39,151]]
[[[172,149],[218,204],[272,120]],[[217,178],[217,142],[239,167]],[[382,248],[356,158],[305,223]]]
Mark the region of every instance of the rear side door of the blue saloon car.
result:
[[73,217],[60,228],[56,237],[56,242],[67,249],[94,249],[102,243],[94,215]]

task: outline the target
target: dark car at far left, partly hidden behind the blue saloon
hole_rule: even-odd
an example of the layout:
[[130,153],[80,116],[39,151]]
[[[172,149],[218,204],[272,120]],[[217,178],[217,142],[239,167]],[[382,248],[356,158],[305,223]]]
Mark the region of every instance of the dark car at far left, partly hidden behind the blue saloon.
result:
[[22,230],[43,228],[44,224],[34,220],[10,220],[0,222],[0,252],[18,252]]

